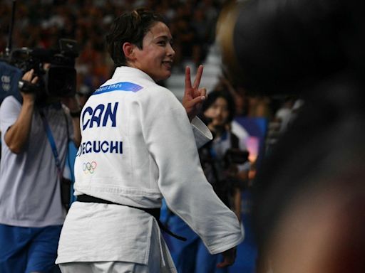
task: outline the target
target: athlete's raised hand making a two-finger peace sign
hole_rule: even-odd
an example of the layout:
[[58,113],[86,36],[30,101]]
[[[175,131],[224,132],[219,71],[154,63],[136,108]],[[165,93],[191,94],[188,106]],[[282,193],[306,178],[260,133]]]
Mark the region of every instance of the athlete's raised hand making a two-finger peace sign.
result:
[[183,97],[183,107],[187,112],[187,117],[189,117],[190,122],[199,112],[200,108],[202,107],[202,101],[205,100],[207,95],[207,90],[205,88],[199,88],[200,79],[202,78],[202,69],[203,66],[199,65],[194,83],[191,85],[190,68],[188,66],[185,68],[185,92]]

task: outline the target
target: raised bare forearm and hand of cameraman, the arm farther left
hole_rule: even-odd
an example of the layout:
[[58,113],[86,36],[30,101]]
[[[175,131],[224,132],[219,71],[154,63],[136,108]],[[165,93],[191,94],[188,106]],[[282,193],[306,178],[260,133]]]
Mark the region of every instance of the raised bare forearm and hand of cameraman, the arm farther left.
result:
[[[29,70],[24,74],[22,80],[35,84],[38,77],[34,77],[34,70]],[[31,131],[31,121],[34,112],[34,102],[36,95],[34,93],[21,92],[23,104],[16,122],[9,127],[4,135],[6,145],[14,154],[23,151],[26,141],[28,141],[29,132]]]

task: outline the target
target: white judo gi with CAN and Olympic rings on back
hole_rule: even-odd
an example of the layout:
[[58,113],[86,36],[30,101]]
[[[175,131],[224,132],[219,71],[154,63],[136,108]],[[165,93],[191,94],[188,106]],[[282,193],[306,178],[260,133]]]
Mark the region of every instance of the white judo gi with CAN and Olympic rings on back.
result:
[[209,130],[197,118],[190,124],[175,95],[150,76],[117,68],[83,107],[80,126],[75,194],[125,205],[73,203],[56,263],[120,261],[175,272],[155,218],[126,206],[160,208],[162,198],[212,254],[242,241],[235,214],[200,166],[197,145]]

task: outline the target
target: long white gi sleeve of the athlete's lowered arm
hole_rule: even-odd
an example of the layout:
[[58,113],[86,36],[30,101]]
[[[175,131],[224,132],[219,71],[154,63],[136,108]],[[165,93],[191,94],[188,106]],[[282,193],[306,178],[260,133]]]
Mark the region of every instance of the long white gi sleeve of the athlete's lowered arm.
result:
[[158,186],[168,208],[199,235],[211,254],[243,240],[240,223],[204,176],[183,106],[170,92],[154,92],[143,105],[143,135],[158,165]]

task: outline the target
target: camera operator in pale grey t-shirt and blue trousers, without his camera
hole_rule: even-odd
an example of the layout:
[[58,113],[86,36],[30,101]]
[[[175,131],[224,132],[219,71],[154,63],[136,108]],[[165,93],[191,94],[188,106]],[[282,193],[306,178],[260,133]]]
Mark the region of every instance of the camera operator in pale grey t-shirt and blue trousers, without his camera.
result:
[[[22,103],[14,96],[0,107],[1,272],[53,272],[66,209],[61,203],[60,173],[68,139],[80,144],[80,105],[76,97],[42,95],[41,76],[24,74]],[[46,127],[45,124],[48,124]],[[56,165],[51,132],[61,169]]]

